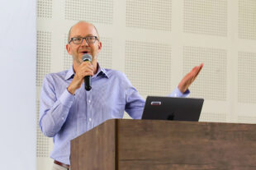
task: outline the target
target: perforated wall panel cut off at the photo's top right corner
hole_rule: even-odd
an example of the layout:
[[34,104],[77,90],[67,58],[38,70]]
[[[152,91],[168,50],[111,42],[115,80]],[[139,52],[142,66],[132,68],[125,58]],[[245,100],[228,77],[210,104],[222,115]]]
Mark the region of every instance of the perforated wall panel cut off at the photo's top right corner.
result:
[[239,0],[239,39],[256,39],[256,1]]

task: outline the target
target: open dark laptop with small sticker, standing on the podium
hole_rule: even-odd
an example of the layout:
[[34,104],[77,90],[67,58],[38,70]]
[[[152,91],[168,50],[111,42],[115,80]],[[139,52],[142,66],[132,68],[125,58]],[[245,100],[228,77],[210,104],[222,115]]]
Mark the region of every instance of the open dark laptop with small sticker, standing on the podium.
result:
[[204,99],[148,96],[141,119],[198,122]]

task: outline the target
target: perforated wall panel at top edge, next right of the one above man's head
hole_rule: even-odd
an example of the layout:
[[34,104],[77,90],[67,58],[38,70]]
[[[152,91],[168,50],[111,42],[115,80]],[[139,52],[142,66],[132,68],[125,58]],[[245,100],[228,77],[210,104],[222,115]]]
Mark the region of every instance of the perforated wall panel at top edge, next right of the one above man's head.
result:
[[126,26],[171,31],[172,1],[126,0]]

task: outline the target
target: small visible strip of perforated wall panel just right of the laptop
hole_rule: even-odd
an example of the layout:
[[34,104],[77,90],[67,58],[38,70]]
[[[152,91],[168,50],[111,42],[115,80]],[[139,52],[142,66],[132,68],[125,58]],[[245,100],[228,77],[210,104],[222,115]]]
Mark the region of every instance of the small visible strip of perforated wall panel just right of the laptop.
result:
[[225,113],[201,113],[200,122],[226,122]]

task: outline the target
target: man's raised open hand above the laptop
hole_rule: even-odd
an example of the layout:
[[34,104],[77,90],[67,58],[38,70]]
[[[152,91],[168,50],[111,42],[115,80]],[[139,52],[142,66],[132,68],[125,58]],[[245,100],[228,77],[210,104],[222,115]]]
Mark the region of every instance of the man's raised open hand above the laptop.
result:
[[192,71],[187,73],[187,75],[183,77],[183,80],[181,80],[181,82],[178,84],[178,90],[180,90],[182,93],[185,93],[185,91],[187,91],[189,85],[191,85],[192,82],[194,80],[196,80],[202,67],[203,67],[203,63],[201,63],[200,66],[194,67],[192,69]]

